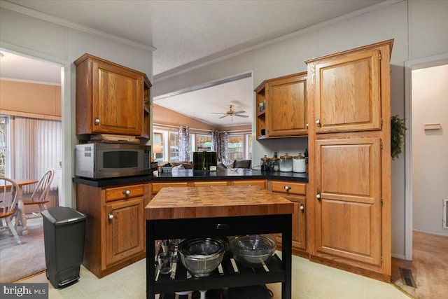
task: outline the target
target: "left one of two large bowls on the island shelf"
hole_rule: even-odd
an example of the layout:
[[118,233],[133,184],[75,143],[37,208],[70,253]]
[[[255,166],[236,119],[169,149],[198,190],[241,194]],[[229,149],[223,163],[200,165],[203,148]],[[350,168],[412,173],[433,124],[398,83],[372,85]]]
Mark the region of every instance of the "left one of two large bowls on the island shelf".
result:
[[185,239],[178,249],[183,265],[194,277],[207,277],[223,260],[225,242],[214,238]]

